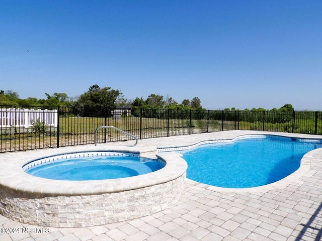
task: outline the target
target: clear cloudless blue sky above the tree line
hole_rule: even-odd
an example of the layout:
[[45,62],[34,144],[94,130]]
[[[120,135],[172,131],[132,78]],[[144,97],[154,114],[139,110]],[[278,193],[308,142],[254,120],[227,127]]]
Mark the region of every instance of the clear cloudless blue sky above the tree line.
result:
[[[27,51],[28,49],[28,51]],[[1,1],[0,89],[322,110],[322,1]]]

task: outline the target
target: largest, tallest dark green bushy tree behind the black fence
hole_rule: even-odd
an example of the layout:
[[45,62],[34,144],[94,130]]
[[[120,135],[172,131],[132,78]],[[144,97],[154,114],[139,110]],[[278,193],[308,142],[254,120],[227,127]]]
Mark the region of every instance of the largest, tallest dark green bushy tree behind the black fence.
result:
[[111,87],[101,88],[97,84],[92,85],[89,91],[79,96],[77,107],[83,107],[86,112],[107,112],[116,107],[116,99],[122,94]]

